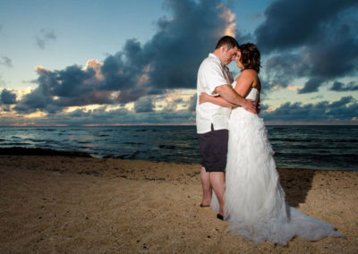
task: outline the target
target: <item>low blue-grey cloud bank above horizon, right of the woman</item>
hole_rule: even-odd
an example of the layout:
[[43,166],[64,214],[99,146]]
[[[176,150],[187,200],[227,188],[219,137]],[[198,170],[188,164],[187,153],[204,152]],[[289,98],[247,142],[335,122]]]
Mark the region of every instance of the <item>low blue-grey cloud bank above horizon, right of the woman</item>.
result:
[[339,123],[351,121],[358,116],[358,103],[354,97],[342,97],[340,100],[329,103],[322,101],[317,104],[287,102],[271,112],[263,112],[261,116],[267,121],[294,121]]

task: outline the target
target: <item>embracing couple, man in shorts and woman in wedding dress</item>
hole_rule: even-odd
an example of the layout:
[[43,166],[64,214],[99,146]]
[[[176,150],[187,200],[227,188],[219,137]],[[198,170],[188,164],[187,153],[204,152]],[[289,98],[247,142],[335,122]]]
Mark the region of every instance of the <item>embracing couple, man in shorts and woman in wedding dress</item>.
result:
[[[226,67],[242,70],[233,79]],[[200,64],[197,133],[203,197],[229,229],[251,241],[286,245],[294,237],[341,236],[333,225],[289,207],[260,111],[260,51],[225,36]]]

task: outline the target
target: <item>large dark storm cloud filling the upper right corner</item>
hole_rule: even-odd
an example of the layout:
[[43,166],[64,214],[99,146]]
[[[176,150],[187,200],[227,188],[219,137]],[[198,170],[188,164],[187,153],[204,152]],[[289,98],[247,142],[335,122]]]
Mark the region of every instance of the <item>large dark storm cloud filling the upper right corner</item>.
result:
[[263,52],[317,43],[329,29],[336,30],[334,23],[345,20],[346,10],[357,7],[355,0],[277,0],[268,5],[255,35]]

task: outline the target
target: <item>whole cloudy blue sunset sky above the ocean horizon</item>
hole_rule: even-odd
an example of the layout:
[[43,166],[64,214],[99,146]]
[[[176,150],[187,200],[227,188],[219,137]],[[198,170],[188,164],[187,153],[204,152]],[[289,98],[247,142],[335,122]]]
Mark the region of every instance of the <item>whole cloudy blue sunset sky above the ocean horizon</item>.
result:
[[194,124],[197,71],[224,35],[260,49],[265,123],[358,124],[357,11],[356,0],[0,0],[0,125]]

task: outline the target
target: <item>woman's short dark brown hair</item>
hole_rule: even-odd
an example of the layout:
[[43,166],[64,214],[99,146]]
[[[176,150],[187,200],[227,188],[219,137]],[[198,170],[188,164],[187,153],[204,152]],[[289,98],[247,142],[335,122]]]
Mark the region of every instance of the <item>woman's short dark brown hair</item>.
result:
[[253,69],[260,73],[260,51],[258,47],[252,43],[245,43],[240,45],[241,62],[243,63],[243,70]]

